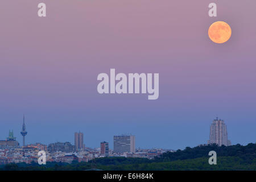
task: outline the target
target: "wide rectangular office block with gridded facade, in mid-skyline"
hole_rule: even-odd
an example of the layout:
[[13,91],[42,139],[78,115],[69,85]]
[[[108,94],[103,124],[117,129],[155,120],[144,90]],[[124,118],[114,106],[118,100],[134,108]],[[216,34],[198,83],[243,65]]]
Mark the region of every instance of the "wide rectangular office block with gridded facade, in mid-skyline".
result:
[[135,152],[135,136],[121,135],[114,136],[114,152]]

